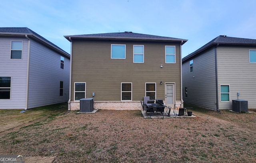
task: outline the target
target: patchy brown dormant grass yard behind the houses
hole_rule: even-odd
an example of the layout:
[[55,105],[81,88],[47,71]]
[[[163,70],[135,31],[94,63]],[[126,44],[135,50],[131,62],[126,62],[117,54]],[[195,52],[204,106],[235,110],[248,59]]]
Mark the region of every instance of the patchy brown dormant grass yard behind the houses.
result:
[[[52,107],[32,120],[40,108],[17,111],[16,116],[24,117],[18,118],[18,126],[0,131],[0,154],[24,155],[27,163],[254,163],[256,159],[256,110],[238,114],[193,107],[196,118],[144,118],[140,110],[76,114],[63,105]],[[8,114],[2,112],[1,116]],[[8,118],[0,122],[4,128]]]

